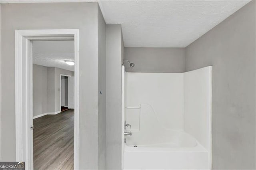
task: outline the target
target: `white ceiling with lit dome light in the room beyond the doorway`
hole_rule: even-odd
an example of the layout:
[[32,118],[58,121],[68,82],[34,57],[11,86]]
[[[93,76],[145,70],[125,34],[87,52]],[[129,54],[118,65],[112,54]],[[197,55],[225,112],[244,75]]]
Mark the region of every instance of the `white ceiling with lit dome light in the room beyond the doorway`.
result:
[[34,64],[74,71],[74,65],[67,65],[64,60],[74,61],[74,41],[33,42]]

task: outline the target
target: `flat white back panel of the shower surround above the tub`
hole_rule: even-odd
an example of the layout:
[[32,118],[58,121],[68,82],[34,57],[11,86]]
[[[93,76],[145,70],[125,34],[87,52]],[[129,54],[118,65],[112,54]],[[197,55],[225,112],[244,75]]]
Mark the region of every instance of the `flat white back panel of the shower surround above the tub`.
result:
[[[140,120],[141,104],[151,106],[152,109],[149,108],[149,111],[156,113],[159,122],[165,128],[182,130],[184,74],[126,73],[126,122],[132,125],[132,130],[141,128],[140,121],[143,121]],[[144,122],[148,126],[155,127],[157,121],[155,117],[147,118]]]

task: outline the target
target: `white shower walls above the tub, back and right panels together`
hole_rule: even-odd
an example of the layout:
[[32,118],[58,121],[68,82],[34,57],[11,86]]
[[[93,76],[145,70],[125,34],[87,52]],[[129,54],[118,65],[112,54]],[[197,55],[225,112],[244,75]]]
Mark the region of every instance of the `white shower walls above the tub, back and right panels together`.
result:
[[210,151],[211,68],[186,73],[126,73],[126,123],[132,131],[184,130]]

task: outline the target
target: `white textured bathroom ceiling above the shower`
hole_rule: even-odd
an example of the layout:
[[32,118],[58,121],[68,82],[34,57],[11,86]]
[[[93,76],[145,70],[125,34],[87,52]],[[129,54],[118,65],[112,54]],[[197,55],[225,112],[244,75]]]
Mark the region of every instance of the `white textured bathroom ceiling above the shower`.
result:
[[250,0],[100,0],[125,47],[186,47]]

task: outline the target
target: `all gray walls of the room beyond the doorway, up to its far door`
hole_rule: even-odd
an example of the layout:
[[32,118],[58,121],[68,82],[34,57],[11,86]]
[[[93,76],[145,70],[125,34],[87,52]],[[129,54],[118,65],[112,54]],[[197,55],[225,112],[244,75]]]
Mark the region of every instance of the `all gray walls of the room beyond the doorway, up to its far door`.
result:
[[60,74],[74,71],[33,64],[33,116],[60,111]]

